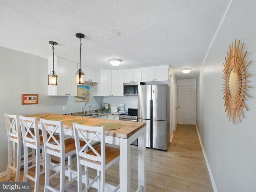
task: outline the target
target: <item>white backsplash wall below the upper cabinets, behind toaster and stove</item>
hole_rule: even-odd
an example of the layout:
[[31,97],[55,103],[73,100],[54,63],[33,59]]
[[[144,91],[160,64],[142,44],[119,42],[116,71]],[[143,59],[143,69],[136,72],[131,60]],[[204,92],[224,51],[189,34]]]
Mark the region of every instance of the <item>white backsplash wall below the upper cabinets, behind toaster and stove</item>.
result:
[[127,109],[138,109],[138,96],[104,97],[104,103],[110,103],[112,107],[125,103]]

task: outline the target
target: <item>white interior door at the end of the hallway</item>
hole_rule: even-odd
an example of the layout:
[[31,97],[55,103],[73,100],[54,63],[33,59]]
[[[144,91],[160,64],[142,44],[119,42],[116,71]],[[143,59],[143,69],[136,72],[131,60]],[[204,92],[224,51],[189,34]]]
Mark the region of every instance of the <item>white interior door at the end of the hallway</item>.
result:
[[195,87],[178,87],[178,123],[195,124]]

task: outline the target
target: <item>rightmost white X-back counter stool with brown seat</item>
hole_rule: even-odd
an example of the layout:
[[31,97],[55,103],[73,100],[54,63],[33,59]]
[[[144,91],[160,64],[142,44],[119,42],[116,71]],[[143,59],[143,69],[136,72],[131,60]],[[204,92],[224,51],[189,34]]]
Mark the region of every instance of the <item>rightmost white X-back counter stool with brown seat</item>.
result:
[[[120,149],[111,146],[105,146],[105,131],[104,127],[94,127],[80,125],[73,123],[74,137],[76,142],[76,158],[77,158],[77,174],[78,174],[78,192],[88,191],[94,182],[98,183],[98,192],[104,192],[105,188],[105,171],[112,164],[120,159]],[[86,135],[88,132],[96,132],[92,139],[88,139]],[[86,145],[81,146],[80,140],[83,139]],[[100,141],[100,144],[92,146],[92,141]],[[90,150],[86,148],[90,147]],[[88,170],[88,167],[97,170],[97,176],[88,182],[88,174],[86,174],[86,188],[82,189],[82,165]],[[113,192],[118,191],[120,185],[118,185]]]

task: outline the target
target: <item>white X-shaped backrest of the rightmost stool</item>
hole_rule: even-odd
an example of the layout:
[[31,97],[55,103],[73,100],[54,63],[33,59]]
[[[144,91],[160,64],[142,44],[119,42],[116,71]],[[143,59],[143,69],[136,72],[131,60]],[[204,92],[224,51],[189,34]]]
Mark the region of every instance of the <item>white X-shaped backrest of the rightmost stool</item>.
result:
[[[105,159],[105,128],[104,127],[94,127],[87,125],[80,125],[78,123],[73,123],[74,137],[76,143],[76,154],[80,157],[84,157],[89,160],[98,161],[101,165],[106,162]],[[88,135],[90,134],[90,138]],[[97,138],[97,139],[96,139]],[[86,144],[81,148],[79,139],[82,139]],[[92,146],[92,141],[100,141],[100,154]],[[86,147],[94,152],[95,155],[87,154],[85,152]]]

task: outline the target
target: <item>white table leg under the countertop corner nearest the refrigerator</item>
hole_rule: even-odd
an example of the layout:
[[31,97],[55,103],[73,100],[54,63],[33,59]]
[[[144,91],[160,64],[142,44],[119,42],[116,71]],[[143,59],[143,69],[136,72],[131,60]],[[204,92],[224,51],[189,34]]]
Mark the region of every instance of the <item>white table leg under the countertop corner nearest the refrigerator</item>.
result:
[[142,185],[142,192],[146,192],[146,130],[138,138],[138,186]]

